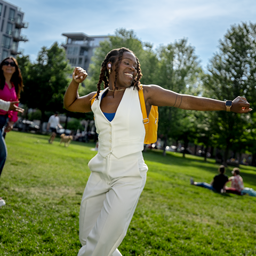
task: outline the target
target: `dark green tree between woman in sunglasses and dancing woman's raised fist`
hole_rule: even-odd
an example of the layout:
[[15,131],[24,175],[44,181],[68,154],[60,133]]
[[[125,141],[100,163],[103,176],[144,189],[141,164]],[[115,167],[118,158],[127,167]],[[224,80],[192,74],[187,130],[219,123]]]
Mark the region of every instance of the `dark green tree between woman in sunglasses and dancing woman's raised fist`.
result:
[[50,49],[42,47],[34,64],[27,56],[17,59],[25,84],[21,102],[28,108],[41,110],[41,123],[47,121],[45,111],[63,113],[63,96],[70,82],[68,75],[71,74],[65,51],[54,43]]

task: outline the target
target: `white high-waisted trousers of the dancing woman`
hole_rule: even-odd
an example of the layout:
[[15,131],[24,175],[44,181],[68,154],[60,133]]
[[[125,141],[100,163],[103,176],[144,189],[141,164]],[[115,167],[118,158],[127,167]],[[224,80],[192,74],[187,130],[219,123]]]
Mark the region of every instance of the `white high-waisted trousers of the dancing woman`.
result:
[[97,154],[81,202],[78,256],[122,256],[117,247],[130,225],[148,170],[142,153],[122,158]]

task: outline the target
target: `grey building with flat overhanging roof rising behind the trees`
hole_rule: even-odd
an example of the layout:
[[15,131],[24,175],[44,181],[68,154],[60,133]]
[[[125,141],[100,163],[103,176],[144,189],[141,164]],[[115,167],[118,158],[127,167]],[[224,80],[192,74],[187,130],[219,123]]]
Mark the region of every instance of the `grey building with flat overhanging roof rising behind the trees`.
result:
[[67,59],[71,66],[89,69],[94,51],[100,42],[107,40],[109,36],[87,36],[84,33],[63,33],[67,37],[66,44],[62,46],[66,50]]

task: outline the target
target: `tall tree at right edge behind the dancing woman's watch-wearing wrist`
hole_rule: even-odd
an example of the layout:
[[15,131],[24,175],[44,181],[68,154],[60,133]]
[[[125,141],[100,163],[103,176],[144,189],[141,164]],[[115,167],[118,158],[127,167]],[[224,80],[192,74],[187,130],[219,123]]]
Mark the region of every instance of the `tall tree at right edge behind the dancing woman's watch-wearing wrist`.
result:
[[[220,41],[219,52],[214,54],[208,66],[210,74],[204,81],[207,95],[219,100],[233,100],[240,95],[246,97],[252,107],[255,106],[255,50],[256,26],[251,22],[231,26]],[[218,143],[226,148],[225,160],[229,149],[244,151],[245,145],[241,140],[246,132],[249,138],[248,133],[253,130],[248,129],[249,121],[255,125],[251,115],[217,111],[214,120],[219,126]],[[251,144],[255,145],[255,137],[251,135],[250,138]],[[256,148],[249,148],[256,153]]]

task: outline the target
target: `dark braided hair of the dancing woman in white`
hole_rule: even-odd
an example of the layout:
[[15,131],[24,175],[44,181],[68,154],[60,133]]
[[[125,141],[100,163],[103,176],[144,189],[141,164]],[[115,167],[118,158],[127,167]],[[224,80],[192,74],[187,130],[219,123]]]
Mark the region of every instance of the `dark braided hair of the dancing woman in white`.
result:
[[[115,81],[114,81],[115,89],[114,89],[114,93],[115,93],[115,90],[118,90],[118,87],[116,86],[116,81],[117,81],[117,76],[118,76],[119,65],[120,65],[120,62],[122,60],[124,52],[131,52],[132,54],[134,54],[131,50],[129,50],[125,47],[122,47],[122,48],[119,48],[119,49],[111,50],[106,55],[105,60],[102,61],[101,69],[100,69],[99,82],[97,84],[97,89],[98,90],[97,90],[97,95],[95,96],[95,99],[98,100],[98,98],[99,98],[100,85],[101,85],[102,81],[104,83],[104,89],[106,89],[109,86],[109,74],[108,74],[108,69],[107,69],[107,63],[108,62],[111,62],[112,66],[114,66],[113,64],[115,63]],[[135,56],[135,54],[134,54],[134,56]],[[135,58],[136,58],[136,61],[138,63],[137,68],[136,68],[137,76],[135,77],[132,85],[133,85],[133,90],[136,87],[136,89],[139,91],[139,90],[141,90],[140,78],[142,77],[142,73],[141,73],[141,69],[140,69],[140,62],[139,62],[139,60],[136,56],[135,56]],[[114,93],[113,93],[113,97],[114,97]]]

